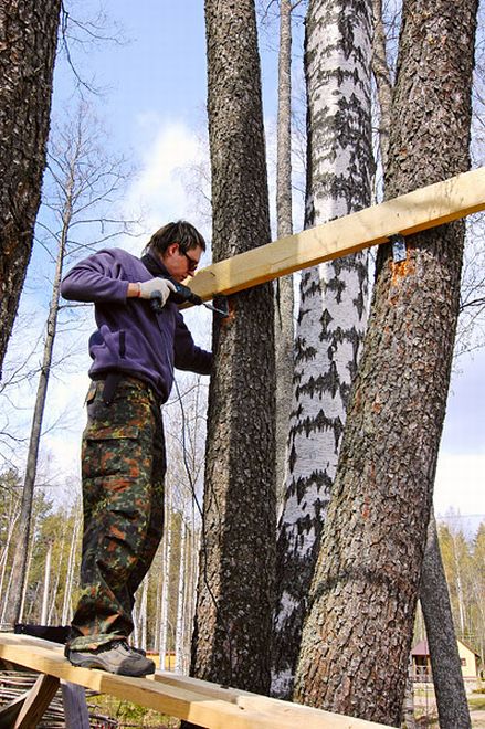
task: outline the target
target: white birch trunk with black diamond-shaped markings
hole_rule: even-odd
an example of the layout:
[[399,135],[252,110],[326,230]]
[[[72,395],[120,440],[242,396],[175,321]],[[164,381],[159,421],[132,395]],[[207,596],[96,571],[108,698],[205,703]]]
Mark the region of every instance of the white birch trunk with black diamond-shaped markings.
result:
[[[305,226],[370,203],[370,1],[310,0]],[[289,698],[307,594],[366,326],[367,256],[304,271],[289,472],[278,525],[272,693]]]

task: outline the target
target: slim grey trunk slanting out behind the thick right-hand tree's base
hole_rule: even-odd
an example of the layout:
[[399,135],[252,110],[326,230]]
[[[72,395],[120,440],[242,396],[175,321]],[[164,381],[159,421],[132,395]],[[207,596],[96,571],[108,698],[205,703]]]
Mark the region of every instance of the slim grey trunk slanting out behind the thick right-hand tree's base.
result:
[[446,578],[431,515],[420,585],[440,727],[471,727]]

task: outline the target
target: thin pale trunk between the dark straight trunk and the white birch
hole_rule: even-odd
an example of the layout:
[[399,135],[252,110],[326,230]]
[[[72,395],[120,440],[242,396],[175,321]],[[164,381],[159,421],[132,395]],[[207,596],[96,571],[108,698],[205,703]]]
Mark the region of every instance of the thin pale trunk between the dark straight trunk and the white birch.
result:
[[[292,221],[292,2],[280,0],[278,113],[276,149],[277,236],[293,232]],[[283,498],[286,441],[293,384],[293,276],[275,281],[276,497]]]

